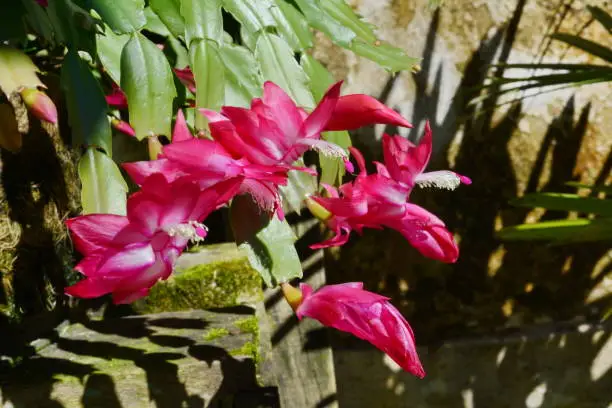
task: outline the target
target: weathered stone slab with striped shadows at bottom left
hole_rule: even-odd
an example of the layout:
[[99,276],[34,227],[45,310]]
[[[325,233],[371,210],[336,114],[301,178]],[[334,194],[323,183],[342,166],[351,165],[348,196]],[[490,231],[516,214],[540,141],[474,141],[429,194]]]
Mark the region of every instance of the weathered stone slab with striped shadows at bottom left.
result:
[[3,376],[0,401],[17,408],[274,407],[274,384],[257,381],[258,343],[247,307],[74,323]]

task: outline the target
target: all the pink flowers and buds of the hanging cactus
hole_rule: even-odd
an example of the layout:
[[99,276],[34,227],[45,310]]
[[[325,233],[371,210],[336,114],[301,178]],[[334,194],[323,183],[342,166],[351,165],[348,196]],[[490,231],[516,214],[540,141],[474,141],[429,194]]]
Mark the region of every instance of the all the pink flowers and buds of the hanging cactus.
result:
[[[188,68],[178,74],[191,84]],[[86,277],[67,288],[67,294],[89,298],[111,293],[115,303],[145,296],[158,280],[170,276],[189,241],[206,237],[202,224],[206,217],[237,194],[251,195],[263,212],[282,219],[279,186],[287,184],[289,171],[316,176],[310,168],[295,166],[307,150],[341,157],[347,169],[354,171],[345,150],[323,140],[322,132],[376,123],[411,127],[374,98],[341,96],[340,86],[331,86],[309,113],[280,87],[266,82],[263,97],[254,99],[248,109],[224,106],[220,112],[200,110],[208,120],[212,139],[194,137],[179,111],[172,141],[161,148],[155,160],[123,165],[141,187],[128,198],[126,216],[91,214],[67,221],[75,246],[84,255],[75,269]],[[192,88],[195,92],[195,84]],[[119,109],[128,103],[119,88],[107,102]],[[129,134],[129,125],[125,126]],[[457,245],[444,223],[408,202],[416,185],[455,188],[461,182],[469,183],[466,177],[450,171],[424,172],[431,137],[428,126],[418,146],[400,136],[385,135],[384,164],[375,163],[377,172],[370,175],[359,151],[351,149],[359,169],[355,180],[337,189],[324,186],[325,196],[306,200],[335,233],[313,247],[342,245],[352,230],[390,227],[424,255],[454,262]],[[308,316],[367,340],[405,370],[422,377],[408,322],[387,298],[362,286],[330,285],[313,293],[308,285],[299,290],[282,284],[300,319]]]

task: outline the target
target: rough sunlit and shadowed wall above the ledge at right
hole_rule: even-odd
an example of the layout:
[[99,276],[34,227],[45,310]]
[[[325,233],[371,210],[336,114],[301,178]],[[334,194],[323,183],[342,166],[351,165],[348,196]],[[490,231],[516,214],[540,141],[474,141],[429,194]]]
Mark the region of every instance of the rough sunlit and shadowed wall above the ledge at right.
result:
[[[467,332],[490,332],[523,323],[597,315],[601,306],[585,299],[604,280],[609,245],[502,244],[495,232],[525,220],[559,217],[553,212],[516,209],[508,201],[525,192],[571,191],[567,181],[610,180],[612,84],[469,101],[494,62],[592,62],[587,54],[547,40],[560,31],[612,45],[579,1],[448,0],[437,12],[427,2],[355,0],[376,24],[382,39],[423,58],[417,74],[396,77],[319,37],[315,55],[338,77],[346,92],[381,97],[409,118],[418,140],[432,122],[437,153],[433,167],[451,167],[474,184],[458,191],[417,191],[414,198],[444,219],[461,242],[460,260],[442,265],[422,259],[398,235],[369,232],[345,250],[332,280],[364,279],[393,296],[426,341]],[[591,1],[606,8],[606,1]],[[585,27],[586,25],[586,27]],[[507,75],[526,74],[507,71]],[[491,109],[501,105],[498,109]],[[356,134],[356,144],[377,157],[382,131]],[[402,133],[404,130],[399,130]],[[405,134],[405,133],[404,133]],[[563,216],[561,214],[561,216]],[[607,256],[605,254],[608,253]],[[600,293],[601,293],[601,287]]]

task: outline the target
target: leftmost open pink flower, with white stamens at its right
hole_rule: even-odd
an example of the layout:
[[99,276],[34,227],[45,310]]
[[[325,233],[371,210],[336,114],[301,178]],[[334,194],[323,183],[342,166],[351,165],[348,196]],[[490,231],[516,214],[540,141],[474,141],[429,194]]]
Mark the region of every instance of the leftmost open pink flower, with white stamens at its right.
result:
[[201,191],[194,183],[169,183],[161,174],[149,177],[131,195],[127,216],[90,214],[66,222],[84,258],[75,267],[86,279],[66,288],[71,296],[113,294],[114,303],[146,296],[172,273],[175,260],[190,240],[202,240],[201,221],[235,194],[234,182]]

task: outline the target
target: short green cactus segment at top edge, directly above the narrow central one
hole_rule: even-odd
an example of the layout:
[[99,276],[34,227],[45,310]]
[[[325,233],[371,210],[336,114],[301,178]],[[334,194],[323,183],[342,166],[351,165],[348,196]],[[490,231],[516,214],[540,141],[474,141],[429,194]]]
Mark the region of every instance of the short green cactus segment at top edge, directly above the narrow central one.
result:
[[193,40],[208,39],[221,44],[221,0],[181,0],[181,15],[185,21],[185,39],[189,48]]

